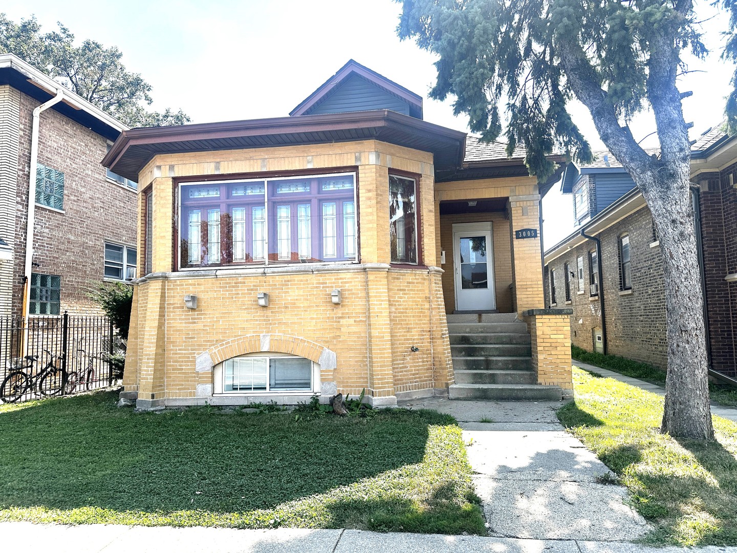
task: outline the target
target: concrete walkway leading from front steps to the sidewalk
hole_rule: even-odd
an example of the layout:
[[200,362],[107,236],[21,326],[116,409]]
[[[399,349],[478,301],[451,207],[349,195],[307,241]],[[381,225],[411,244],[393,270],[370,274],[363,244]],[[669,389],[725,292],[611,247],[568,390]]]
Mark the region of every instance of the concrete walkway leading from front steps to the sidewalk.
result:
[[[429,400],[464,428],[489,535],[537,540],[629,541],[649,531],[609,469],[568,434],[552,402]],[[481,422],[481,420],[493,422]]]

